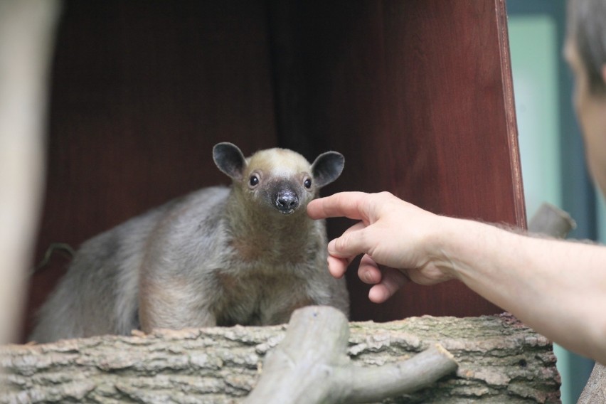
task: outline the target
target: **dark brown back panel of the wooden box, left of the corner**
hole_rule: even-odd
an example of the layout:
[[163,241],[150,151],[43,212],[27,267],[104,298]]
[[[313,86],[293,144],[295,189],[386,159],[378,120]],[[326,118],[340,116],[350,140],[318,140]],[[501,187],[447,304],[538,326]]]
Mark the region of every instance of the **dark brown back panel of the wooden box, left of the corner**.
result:
[[[36,260],[175,196],[228,184],[213,144],[275,146],[260,1],[67,1]],[[66,261],[33,277],[29,318]]]

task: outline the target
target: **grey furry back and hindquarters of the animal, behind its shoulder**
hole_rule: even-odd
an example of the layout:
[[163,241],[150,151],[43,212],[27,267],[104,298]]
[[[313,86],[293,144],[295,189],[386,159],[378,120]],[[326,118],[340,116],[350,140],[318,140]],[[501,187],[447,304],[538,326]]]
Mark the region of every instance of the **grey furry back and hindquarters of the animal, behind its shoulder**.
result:
[[38,312],[29,339],[43,343],[138,329],[139,270],[149,237],[183,206],[218,206],[228,192],[226,187],[204,188],[85,241]]

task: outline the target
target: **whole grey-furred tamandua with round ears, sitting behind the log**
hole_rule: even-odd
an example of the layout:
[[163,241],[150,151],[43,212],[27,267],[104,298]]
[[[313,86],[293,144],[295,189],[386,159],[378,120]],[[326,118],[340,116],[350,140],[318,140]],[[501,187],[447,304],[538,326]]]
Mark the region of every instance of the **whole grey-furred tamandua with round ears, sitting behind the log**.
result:
[[83,243],[30,339],[281,324],[308,304],[349,314],[345,282],[327,269],[324,222],[306,213],[343,156],[309,164],[267,149],[245,159],[220,143],[213,158],[231,187],[203,188]]

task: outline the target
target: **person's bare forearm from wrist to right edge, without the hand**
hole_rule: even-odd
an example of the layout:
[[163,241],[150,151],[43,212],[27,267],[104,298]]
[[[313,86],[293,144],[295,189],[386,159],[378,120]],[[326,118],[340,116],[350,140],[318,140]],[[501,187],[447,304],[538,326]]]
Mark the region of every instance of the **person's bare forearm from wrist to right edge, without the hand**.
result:
[[606,361],[606,248],[444,221],[437,265],[553,341]]

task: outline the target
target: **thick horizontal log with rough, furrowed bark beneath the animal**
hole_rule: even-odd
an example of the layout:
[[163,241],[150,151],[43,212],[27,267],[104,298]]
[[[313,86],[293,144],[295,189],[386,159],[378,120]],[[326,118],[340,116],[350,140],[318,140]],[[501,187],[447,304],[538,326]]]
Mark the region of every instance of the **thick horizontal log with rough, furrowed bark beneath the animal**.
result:
[[[551,343],[510,315],[350,323],[354,366],[412,358],[434,344],[456,374],[383,403],[558,403]],[[0,347],[0,403],[240,403],[286,325],[158,330]]]

